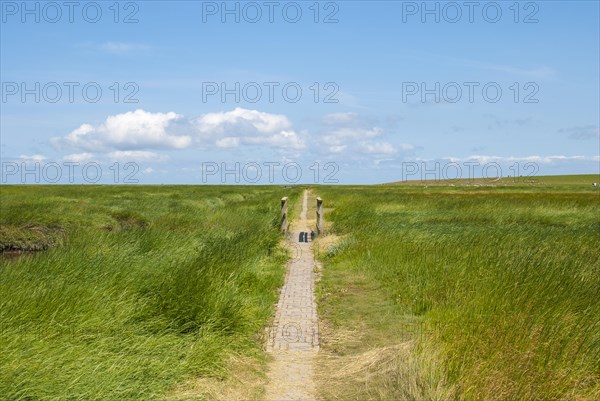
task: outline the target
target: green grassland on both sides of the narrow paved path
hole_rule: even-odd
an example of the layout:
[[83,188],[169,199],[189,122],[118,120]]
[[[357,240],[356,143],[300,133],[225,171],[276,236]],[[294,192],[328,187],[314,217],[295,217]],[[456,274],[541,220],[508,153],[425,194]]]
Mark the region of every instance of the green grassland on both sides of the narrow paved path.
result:
[[[313,188],[324,400],[600,398],[600,180],[538,179]],[[260,376],[300,194],[0,187],[0,399],[218,399],[232,359]]]

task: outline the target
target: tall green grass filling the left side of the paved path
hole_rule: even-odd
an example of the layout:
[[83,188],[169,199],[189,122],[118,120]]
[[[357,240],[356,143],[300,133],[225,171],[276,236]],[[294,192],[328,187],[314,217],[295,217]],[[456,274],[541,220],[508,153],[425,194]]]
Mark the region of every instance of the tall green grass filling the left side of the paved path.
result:
[[0,191],[2,250],[38,251],[0,260],[0,398],[176,397],[187,381],[226,379],[232,356],[263,360],[287,258],[279,199],[299,191]]

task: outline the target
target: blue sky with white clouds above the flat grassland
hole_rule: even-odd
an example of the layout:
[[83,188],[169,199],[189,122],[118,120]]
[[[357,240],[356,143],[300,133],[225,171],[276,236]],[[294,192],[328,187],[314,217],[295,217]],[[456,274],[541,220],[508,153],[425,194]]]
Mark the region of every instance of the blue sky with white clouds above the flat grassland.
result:
[[600,170],[597,1],[73,4],[1,2],[3,183]]

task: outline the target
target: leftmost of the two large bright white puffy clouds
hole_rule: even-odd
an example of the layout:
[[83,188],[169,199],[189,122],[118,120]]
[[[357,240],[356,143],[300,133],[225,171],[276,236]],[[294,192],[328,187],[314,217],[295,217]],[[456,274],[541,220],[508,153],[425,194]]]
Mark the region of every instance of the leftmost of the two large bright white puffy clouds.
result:
[[62,138],[52,138],[56,146],[68,146],[87,151],[131,149],[183,149],[192,143],[188,135],[176,135],[177,121],[182,116],[136,110],[109,116],[104,123],[82,124]]

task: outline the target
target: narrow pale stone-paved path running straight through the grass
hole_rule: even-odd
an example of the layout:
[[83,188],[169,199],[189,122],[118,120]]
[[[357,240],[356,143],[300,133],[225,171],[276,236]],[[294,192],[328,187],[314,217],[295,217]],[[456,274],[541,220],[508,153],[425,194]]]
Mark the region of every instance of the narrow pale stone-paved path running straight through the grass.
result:
[[273,356],[266,391],[269,401],[316,399],[313,364],[319,351],[319,327],[314,286],[318,266],[312,243],[298,242],[301,231],[311,231],[306,222],[307,207],[305,191],[300,221],[294,224],[287,243],[294,257],[287,265],[275,320],[269,329],[267,352]]

